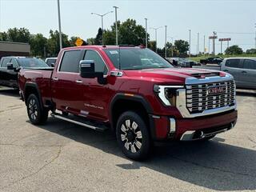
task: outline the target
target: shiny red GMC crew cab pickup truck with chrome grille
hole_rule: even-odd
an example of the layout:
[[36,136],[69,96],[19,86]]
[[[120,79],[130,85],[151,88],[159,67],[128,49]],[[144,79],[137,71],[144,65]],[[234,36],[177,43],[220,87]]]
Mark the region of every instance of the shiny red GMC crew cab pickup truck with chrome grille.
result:
[[175,68],[141,46],[62,49],[54,68],[24,69],[19,88],[30,122],[51,116],[114,130],[128,158],[154,142],[208,140],[237,121],[235,84],[222,71]]

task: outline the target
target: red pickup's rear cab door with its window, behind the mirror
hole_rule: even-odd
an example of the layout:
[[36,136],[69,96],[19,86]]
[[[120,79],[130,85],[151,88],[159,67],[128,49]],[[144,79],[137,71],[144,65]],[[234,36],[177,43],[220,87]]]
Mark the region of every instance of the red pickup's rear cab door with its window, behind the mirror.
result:
[[83,104],[82,84],[79,77],[79,62],[82,50],[66,50],[51,77],[52,99],[58,110],[80,114]]

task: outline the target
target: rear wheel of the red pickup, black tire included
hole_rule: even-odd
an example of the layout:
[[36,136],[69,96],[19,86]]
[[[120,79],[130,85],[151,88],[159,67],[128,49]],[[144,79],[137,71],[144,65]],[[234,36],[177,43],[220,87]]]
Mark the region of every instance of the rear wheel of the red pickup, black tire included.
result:
[[38,97],[35,94],[30,94],[26,102],[27,115],[30,122],[34,125],[41,125],[47,121],[48,110],[42,109]]

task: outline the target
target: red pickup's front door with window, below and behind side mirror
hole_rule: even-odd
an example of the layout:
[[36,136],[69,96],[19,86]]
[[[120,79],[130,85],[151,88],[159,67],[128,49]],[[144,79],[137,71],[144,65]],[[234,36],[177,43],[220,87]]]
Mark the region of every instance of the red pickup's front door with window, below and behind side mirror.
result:
[[[96,50],[86,50],[83,60],[94,60],[95,71],[108,73],[106,62]],[[110,101],[110,90],[107,85],[98,83],[97,78],[80,78],[83,85],[83,113],[88,118],[107,120],[107,106]]]

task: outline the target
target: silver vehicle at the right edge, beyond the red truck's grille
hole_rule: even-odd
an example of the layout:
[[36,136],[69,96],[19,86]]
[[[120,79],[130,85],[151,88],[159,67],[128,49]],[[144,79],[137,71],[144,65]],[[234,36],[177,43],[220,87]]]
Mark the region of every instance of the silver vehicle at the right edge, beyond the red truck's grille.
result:
[[221,70],[234,76],[238,88],[256,90],[256,58],[225,58]]

